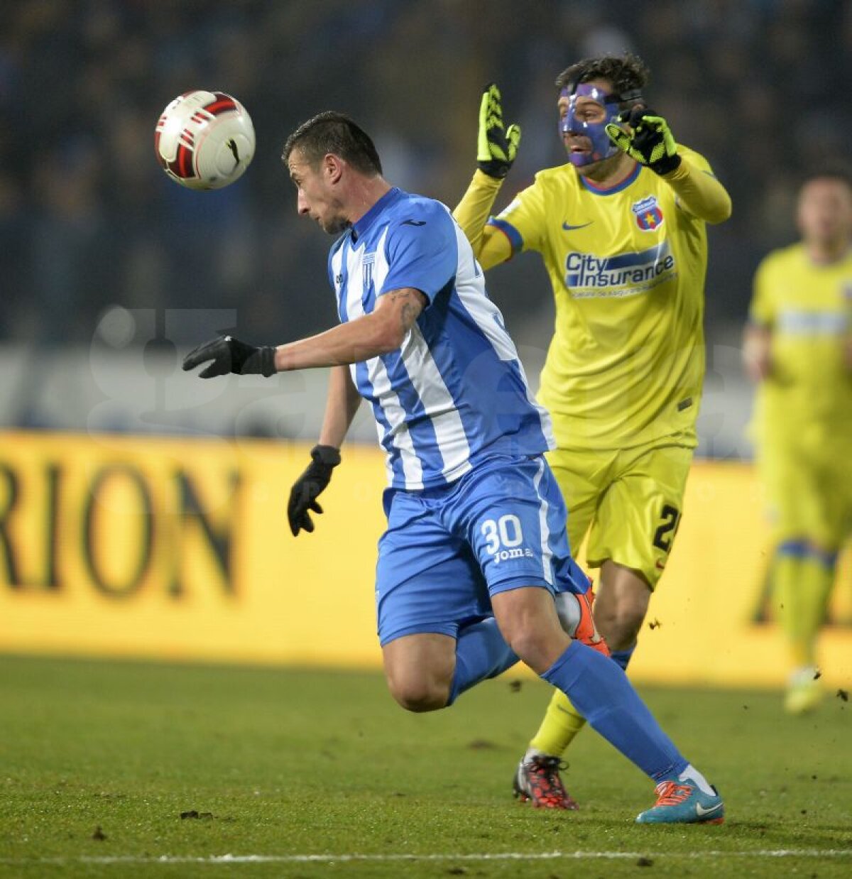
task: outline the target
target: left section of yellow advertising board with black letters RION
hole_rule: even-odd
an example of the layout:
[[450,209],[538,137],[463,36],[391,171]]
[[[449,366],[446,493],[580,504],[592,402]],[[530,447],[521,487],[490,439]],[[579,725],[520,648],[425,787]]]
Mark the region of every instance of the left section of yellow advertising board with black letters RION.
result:
[[375,665],[384,469],[346,450],[328,514],[286,509],[309,448],[5,434],[0,649]]

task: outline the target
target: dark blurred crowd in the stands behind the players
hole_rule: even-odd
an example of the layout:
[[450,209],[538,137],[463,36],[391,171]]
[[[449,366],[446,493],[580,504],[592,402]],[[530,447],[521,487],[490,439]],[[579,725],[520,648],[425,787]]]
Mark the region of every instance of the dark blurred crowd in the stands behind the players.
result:
[[[732,220],[710,231],[707,329],[737,345],[754,267],[796,236],[798,178],[852,142],[847,0],[7,0],[0,28],[0,343],[13,345],[91,344],[116,305],[235,309],[258,343],[321,330],[331,241],[297,217],[280,163],[296,125],[350,113],[391,182],[452,206],[495,80],[524,132],[502,207],[564,161],[557,74],[624,50],[732,193]],[[185,191],[155,160],[159,113],[193,88],[233,93],[254,120],[254,162],[222,192]],[[546,345],[537,258],[491,286],[521,345]],[[178,346],[199,341],[192,320],[169,326]]]

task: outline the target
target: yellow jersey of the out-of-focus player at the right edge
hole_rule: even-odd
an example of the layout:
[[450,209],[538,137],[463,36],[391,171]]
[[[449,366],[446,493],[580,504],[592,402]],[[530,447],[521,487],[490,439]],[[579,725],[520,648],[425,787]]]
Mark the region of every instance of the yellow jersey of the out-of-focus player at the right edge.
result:
[[829,264],[813,262],[801,243],[770,253],[754,276],[750,319],[772,332],[756,438],[792,439],[811,454],[848,450],[852,371],[844,346],[852,333],[852,250]]

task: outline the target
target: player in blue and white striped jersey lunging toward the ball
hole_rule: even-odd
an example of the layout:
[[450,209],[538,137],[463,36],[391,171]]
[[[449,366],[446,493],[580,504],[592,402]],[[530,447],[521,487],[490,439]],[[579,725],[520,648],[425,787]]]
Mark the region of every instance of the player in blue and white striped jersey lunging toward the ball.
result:
[[294,534],[313,530],[358,404],[371,405],[387,454],[376,605],[391,694],[411,711],[444,708],[520,658],[666,791],[637,821],[720,823],[717,791],[594,631],[543,457],[550,418],[448,207],[392,187],[368,135],[339,113],[297,128],[283,159],[299,213],[339,236],[328,268],[340,324],[277,347],[216,338],[184,368],[331,367],[319,443],[288,505]]

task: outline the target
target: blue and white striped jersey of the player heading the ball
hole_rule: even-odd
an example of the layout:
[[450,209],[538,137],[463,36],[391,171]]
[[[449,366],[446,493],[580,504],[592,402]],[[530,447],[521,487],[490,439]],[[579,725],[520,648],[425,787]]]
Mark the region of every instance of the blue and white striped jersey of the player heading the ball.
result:
[[342,322],[402,287],[428,299],[397,351],[351,367],[373,407],[391,487],[446,485],[493,455],[553,447],[550,416],[530,394],[448,207],[391,189],[331,248],[329,276]]

